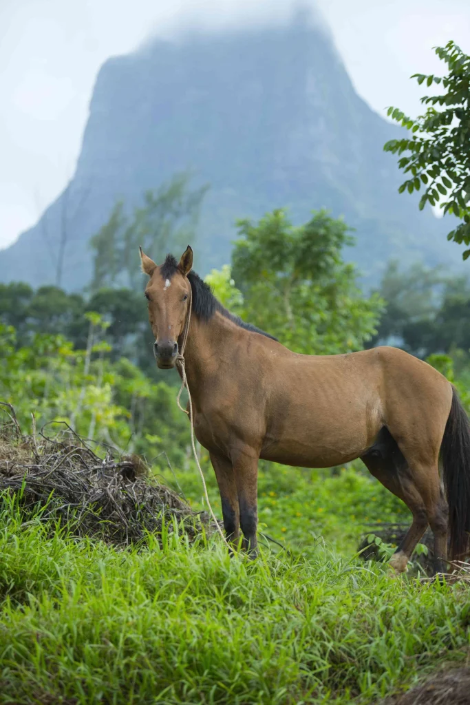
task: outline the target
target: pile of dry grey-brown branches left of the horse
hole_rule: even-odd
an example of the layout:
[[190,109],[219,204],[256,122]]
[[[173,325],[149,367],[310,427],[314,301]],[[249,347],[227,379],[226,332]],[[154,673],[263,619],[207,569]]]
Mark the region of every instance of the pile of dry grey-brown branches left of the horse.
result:
[[208,533],[214,529],[206,513],[192,511],[156,482],[137,455],[119,455],[106,446],[99,457],[96,444],[66,424],[53,438],[44,430],[25,436],[13,407],[1,404],[0,410],[0,492],[16,494],[21,508],[39,506],[42,519],[117,546],[142,541],[149,533],[158,536],[163,521],[171,531],[173,519],[190,540],[203,524]]

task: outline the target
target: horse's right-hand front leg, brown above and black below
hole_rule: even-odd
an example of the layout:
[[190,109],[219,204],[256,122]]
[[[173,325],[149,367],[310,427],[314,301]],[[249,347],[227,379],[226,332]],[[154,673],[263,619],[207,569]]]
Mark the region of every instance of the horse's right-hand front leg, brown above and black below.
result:
[[242,448],[232,453],[232,465],[237,485],[240,508],[240,527],[243,548],[251,558],[258,555],[258,454],[252,448]]

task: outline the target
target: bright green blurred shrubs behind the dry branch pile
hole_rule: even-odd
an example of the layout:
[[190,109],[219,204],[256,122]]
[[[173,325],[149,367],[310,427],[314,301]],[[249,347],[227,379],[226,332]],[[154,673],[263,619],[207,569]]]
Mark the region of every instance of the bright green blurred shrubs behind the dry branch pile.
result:
[[184,465],[189,429],[174,388],[152,382],[125,358],[110,361],[106,321],[96,312],[87,318],[86,350],[42,333],[18,348],[15,330],[0,324],[0,400],[15,407],[23,431],[33,413],[38,428],[65,421],[87,438],[148,460],[165,451],[157,465],[166,465],[167,456]]

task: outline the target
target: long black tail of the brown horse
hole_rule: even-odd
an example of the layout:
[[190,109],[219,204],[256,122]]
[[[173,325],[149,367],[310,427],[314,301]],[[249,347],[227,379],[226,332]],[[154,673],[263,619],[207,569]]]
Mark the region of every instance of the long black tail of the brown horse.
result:
[[470,545],[470,422],[454,387],[440,460],[449,503],[449,558],[465,560]]

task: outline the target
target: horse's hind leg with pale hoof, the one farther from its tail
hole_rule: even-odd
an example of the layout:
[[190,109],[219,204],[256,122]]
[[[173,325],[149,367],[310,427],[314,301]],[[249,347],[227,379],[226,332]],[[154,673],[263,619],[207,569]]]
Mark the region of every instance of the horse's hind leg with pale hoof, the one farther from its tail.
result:
[[428,526],[426,505],[413,481],[407,461],[387,429],[382,429],[377,442],[362,456],[361,460],[383,486],[407,505],[413,515],[413,522],[407,535],[390,558],[392,568],[397,572],[404,572],[416,544]]

